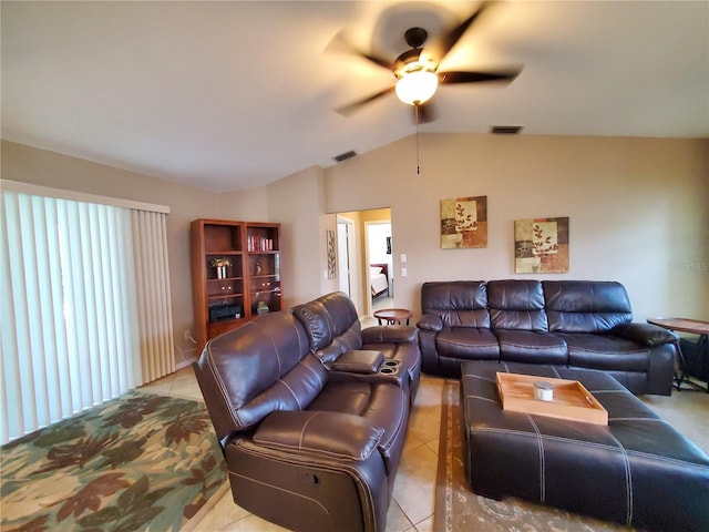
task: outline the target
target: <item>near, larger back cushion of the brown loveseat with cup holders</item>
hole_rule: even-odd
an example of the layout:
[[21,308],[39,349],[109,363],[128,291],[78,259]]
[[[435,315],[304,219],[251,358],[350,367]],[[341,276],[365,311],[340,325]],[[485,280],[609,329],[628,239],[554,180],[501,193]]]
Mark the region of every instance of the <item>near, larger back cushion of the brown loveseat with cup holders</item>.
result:
[[302,325],[270,313],[207,342],[193,368],[219,440],[276,410],[302,410],[327,382]]

